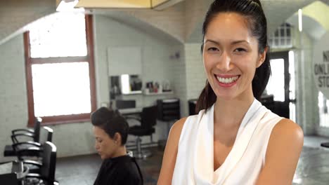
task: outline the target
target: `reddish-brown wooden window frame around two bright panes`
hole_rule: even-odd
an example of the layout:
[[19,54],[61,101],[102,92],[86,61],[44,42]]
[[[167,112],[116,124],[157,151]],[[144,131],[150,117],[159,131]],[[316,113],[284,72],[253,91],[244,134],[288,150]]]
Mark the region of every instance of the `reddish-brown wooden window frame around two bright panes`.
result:
[[[93,53],[93,20],[92,15],[85,15],[86,22],[86,46],[87,55],[83,57],[48,57],[48,58],[31,58],[30,55],[30,33],[24,33],[24,48],[25,48],[25,69],[27,83],[27,109],[28,121],[27,126],[34,125],[34,97],[32,84],[32,64],[47,64],[47,63],[63,63],[63,62],[88,62],[89,63],[89,83],[91,96],[91,112],[96,110],[96,78],[95,64]],[[71,114],[59,116],[44,116],[42,125],[56,125],[61,123],[81,123],[90,120],[90,114]]]

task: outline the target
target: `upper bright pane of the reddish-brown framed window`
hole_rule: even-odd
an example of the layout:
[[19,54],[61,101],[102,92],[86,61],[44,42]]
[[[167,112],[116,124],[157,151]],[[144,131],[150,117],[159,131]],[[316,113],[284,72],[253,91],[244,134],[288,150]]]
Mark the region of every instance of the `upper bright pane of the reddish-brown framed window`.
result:
[[32,58],[87,55],[83,13],[54,13],[32,23],[29,29]]

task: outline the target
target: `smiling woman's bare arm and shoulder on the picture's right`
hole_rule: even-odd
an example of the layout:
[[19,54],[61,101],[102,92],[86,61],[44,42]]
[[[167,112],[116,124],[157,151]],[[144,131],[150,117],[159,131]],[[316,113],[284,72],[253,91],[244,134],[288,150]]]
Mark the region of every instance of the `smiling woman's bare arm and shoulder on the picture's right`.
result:
[[256,184],[292,184],[303,142],[299,125],[289,119],[277,123],[271,132],[265,164]]

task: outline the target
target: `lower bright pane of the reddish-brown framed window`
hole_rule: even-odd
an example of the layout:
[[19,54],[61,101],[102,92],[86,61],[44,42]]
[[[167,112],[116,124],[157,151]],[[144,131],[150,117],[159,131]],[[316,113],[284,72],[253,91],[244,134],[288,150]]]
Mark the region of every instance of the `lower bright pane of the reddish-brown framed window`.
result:
[[32,64],[35,116],[91,112],[88,62]]

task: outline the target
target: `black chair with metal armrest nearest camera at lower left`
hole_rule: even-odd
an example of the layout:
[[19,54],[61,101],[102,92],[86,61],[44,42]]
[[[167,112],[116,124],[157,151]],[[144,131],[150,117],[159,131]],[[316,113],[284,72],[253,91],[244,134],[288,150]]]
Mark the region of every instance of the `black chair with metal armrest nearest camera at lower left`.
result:
[[34,148],[34,150],[36,152],[42,152],[42,164],[39,165],[39,173],[28,173],[26,175],[25,184],[39,184],[40,180],[44,181],[47,185],[58,184],[58,181],[55,180],[57,155],[55,144],[46,142],[42,151],[38,148]]

